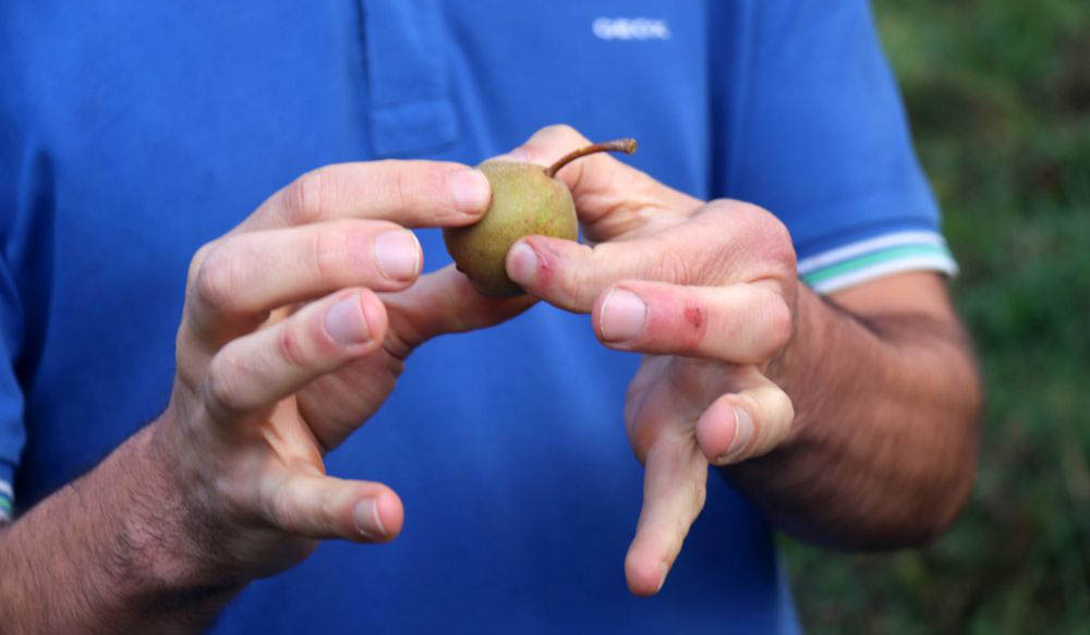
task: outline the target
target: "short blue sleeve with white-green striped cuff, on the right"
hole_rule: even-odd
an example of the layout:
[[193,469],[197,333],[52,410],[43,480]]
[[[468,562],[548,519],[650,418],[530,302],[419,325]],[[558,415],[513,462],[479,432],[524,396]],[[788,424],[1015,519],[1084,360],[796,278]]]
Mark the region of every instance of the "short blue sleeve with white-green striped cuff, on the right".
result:
[[729,196],[788,227],[827,293],[906,270],[956,272],[864,0],[748,4],[722,89]]

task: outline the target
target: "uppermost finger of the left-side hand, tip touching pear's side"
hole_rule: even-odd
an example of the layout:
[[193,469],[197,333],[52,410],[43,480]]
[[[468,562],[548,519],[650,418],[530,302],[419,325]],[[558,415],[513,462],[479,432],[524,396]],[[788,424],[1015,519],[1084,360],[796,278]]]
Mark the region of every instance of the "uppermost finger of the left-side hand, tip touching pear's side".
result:
[[460,163],[337,163],[303,174],[269,197],[234,231],[338,218],[383,219],[404,227],[456,227],[476,221],[491,197],[484,173]]

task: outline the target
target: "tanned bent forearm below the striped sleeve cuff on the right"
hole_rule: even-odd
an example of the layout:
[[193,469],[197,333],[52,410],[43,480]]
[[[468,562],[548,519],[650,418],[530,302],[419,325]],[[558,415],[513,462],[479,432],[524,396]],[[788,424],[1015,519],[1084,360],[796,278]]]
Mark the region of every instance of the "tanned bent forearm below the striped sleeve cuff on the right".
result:
[[859,317],[809,290],[794,344],[770,369],[790,437],[725,468],[789,533],[844,548],[917,545],[948,525],[976,467],[980,388],[957,320]]

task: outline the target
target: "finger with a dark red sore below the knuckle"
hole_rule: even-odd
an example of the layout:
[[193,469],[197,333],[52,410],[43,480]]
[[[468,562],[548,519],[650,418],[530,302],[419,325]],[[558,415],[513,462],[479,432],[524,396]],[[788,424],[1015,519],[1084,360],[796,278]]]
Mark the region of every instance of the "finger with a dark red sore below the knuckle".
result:
[[613,349],[758,364],[791,334],[791,313],[766,285],[625,281],[598,296],[594,332]]

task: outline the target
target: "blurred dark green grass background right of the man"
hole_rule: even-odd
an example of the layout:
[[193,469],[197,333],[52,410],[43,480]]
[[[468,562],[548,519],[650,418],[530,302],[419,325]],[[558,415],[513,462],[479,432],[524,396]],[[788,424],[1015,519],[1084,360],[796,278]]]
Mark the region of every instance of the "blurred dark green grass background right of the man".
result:
[[1090,634],[1090,3],[875,0],[988,405],[937,542],[784,539],[809,633]]

